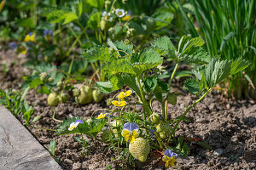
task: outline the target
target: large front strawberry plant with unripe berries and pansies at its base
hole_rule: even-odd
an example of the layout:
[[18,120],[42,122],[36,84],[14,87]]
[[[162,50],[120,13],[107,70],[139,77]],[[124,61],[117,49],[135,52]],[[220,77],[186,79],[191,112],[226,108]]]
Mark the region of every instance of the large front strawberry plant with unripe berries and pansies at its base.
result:
[[[150,150],[166,150],[161,155],[162,161],[166,162],[166,167],[173,166],[177,156],[189,154],[189,147],[183,142],[184,139],[175,136],[179,123],[186,121],[185,116],[191,108],[201,102],[218,82],[249,65],[244,59],[211,59],[204,48],[201,48],[203,44],[201,37],[183,36],[175,48],[168,37],[160,37],[151,47],[141,51],[135,51],[134,45],[128,41],[110,40],[107,47],[96,46],[84,50],[84,59],[99,60],[101,71],[108,79],[105,82],[96,82],[96,87],[105,94],[124,86],[125,91],[118,92],[110,100],[115,106],[112,110],[100,110],[102,112],[98,116],[96,113],[99,111],[95,111],[88,120],[82,117],[64,120],[57,133],[86,134],[110,144],[119,153],[125,151],[127,161],[146,161]],[[170,65],[170,60],[175,66],[170,80],[166,82],[157,75],[161,74],[161,65]],[[198,65],[193,70],[194,77],[184,82],[184,88],[198,99],[184,108],[181,116],[168,119],[168,103],[177,103],[178,93],[170,93],[170,90],[181,62]],[[162,107],[159,113],[154,111],[153,101],[160,102]],[[136,105],[142,105],[143,111],[138,110]]]

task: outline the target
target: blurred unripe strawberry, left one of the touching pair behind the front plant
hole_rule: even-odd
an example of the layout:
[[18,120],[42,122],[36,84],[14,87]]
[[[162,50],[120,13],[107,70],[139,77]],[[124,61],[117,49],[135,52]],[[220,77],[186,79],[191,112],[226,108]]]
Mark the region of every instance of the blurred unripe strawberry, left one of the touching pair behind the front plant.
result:
[[80,94],[78,96],[79,104],[89,104],[92,101],[92,89],[90,86],[83,86],[80,88]]

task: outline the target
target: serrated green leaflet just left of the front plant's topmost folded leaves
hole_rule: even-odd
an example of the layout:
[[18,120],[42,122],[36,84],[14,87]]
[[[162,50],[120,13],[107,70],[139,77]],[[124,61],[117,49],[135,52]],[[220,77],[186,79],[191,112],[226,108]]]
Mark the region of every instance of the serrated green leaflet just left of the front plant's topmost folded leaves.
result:
[[171,40],[169,37],[160,37],[156,40],[154,40],[153,44],[154,48],[160,48],[163,51],[160,52],[160,54],[164,55],[166,54],[167,57],[175,58],[175,47],[173,46]]

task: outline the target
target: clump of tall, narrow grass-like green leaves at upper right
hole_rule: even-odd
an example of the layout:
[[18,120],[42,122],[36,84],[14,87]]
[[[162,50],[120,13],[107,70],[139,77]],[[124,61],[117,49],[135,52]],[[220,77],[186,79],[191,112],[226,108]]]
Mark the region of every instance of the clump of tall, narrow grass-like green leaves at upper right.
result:
[[[256,4],[254,0],[189,0],[192,10],[179,1],[173,5],[184,20],[185,30],[192,37],[206,41],[208,53],[222,59],[243,58],[251,66],[245,72],[229,77],[228,94],[256,99]],[[195,17],[194,17],[195,16]],[[247,81],[245,81],[247,80]],[[222,88],[224,89],[224,88]]]

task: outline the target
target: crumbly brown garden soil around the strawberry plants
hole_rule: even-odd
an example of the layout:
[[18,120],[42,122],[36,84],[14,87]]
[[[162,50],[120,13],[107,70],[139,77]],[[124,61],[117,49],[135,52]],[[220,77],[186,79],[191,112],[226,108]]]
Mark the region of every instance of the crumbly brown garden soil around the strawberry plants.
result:
[[[20,88],[23,74],[29,71],[21,66],[24,56],[19,59],[12,51],[0,52],[0,65],[3,61],[9,69],[3,72],[0,67],[1,88]],[[16,61],[16,64],[12,63]],[[176,83],[178,84],[178,82]],[[47,105],[47,96],[37,94],[30,90],[26,100],[34,107],[33,116],[41,116],[34,123],[35,127],[56,129],[59,122],[52,119],[53,111]],[[181,94],[178,96],[177,105],[168,106],[168,114],[174,118],[181,116],[184,108],[195,100],[195,96]],[[74,105],[72,102],[60,104],[55,108],[57,119],[66,119],[72,116],[90,117],[96,109],[106,108],[104,101],[100,104]],[[154,110],[160,111],[160,104],[154,103]],[[256,104],[252,100],[231,100],[222,98],[218,91],[208,94],[200,104],[189,111],[187,115],[190,122],[181,123],[177,135],[201,139],[212,146],[212,150],[205,150],[196,144],[189,144],[190,153],[186,158],[178,158],[177,169],[256,169]],[[20,121],[22,119],[19,117]],[[123,161],[116,161],[118,154],[108,149],[107,144],[87,139],[90,148],[82,150],[82,145],[73,139],[76,135],[57,136],[54,132],[28,127],[31,133],[45,147],[55,139],[55,156],[63,169],[125,169]],[[86,139],[86,137],[84,136]],[[84,153],[84,154],[83,154]],[[83,155],[83,156],[82,156]],[[149,159],[148,159],[149,160]],[[137,163],[137,169],[161,169],[156,161]]]

